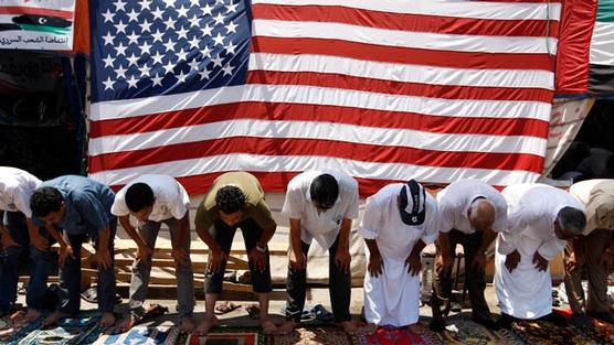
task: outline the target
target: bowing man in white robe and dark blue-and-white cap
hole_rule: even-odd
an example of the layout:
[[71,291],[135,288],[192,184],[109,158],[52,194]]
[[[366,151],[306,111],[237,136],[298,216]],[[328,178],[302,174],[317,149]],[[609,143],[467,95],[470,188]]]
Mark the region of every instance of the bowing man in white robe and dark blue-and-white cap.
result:
[[420,316],[421,252],[437,238],[437,202],[411,180],[367,198],[360,234],[368,247],[364,276],[367,333],[411,327]]

